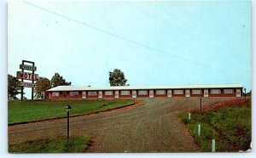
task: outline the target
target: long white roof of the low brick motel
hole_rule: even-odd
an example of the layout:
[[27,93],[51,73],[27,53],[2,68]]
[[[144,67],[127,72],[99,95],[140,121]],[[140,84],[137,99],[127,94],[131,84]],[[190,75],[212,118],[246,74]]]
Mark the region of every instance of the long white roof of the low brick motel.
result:
[[88,87],[88,86],[58,86],[47,92],[58,91],[96,91],[96,90],[150,90],[150,89],[191,89],[191,88],[240,88],[241,84],[204,84],[204,85],[173,85],[173,86],[113,86],[113,87]]

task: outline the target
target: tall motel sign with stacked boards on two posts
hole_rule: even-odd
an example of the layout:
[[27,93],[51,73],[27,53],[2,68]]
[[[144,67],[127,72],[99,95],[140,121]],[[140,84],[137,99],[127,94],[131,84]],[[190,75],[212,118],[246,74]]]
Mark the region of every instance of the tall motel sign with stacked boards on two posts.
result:
[[[26,63],[29,63],[30,65],[26,65]],[[22,60],[22,64],[20,65],[21,71],[17,71],[17,78],[21,79],[20,87],[21,87],[21,101],[23,101],[23,91],[24,87],[32,87],[32,99],[34,99],[34,88],[37,87],[37,84],[34,83],[34,81],[38,80],[38,74],[35,74],[35,71],[37,71],[37,67],[35,66],[35,63],[32,61]],[[26,71],[32,71],[32,73],[25,72]],[[30,80],[32,82],[24,82],[24,80]]]

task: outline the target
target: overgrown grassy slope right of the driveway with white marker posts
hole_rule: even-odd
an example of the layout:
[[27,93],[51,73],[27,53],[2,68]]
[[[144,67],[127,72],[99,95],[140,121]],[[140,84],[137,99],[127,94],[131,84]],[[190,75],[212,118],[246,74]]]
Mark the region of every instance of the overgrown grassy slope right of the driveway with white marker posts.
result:
[[[225,105],[218,109],[208,109],[202,112],[178,113],[195,138],[195,143],[201,151],[211,151],[212,139],[216,141],[216,151],[248,150],[252,140],[251,102],[242,105]],[[201,136],[198,136],[198,124],[201,122]]]

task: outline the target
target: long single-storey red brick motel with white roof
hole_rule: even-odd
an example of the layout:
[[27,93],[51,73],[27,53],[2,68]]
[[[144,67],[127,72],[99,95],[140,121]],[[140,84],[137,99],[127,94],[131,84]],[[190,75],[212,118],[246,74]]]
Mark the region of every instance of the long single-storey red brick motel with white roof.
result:
[[137,99],[172,97],[241,97],[241,84],[180,85],[148,87],[58,86],[47,90],[48,99]]

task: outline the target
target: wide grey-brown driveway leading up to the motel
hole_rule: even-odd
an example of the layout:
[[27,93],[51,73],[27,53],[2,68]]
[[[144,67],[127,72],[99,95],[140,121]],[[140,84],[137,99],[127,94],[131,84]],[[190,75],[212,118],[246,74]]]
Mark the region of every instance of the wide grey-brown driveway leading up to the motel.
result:
[[[229,98],[203,99],[212,104]],[[146,104],[71,118],[71,135],[92,141],[86,152],[194,152],[199,148],[183,123],[179,110],[199,106],[197,98],[145,99]],[[73,107],[75,108],[75,107]],[[9,127],[9,144],[67,133],[65,119]]]

